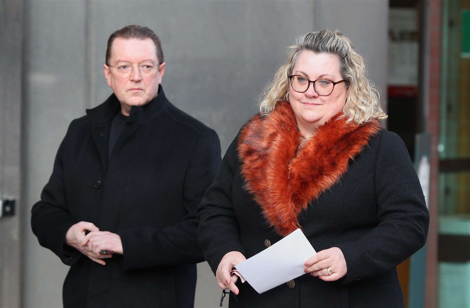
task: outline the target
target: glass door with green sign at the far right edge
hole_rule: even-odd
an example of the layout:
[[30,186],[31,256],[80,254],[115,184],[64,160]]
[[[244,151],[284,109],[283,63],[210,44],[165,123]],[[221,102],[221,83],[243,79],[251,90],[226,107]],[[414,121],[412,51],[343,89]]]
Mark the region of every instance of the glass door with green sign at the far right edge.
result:
[[442,1],[439,307],[470,307],[470,0]]

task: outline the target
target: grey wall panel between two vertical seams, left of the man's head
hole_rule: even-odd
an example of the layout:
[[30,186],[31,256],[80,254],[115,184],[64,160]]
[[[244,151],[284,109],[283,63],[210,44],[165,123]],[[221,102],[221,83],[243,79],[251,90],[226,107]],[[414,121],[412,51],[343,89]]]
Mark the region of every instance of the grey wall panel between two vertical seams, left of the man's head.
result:
[[39,246],[31,207],[52,172],[71,119],[87,101],[85,2],[26,2],[23,100],[23,307],[62,307],[68,267]]

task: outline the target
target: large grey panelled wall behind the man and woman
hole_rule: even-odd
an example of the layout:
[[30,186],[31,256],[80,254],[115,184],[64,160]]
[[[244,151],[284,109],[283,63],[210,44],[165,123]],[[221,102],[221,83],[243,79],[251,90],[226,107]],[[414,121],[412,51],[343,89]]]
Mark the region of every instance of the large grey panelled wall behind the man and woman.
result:
[[[366,61],[372,60],[369,67],[381,68],[372,76],[386,80],[387,25],[382,21],[388,3],[364,1],[369,5],[356,7],[334,2],[344,3],[347,11],[323,1],[25,2],[23,306],[62,305],[68,267],[39,246],[29,226],[29,209],[50,176],[70,121],[111,93],[102,73],[111,32],[136,23],[160,36],[167,64],[165,94],[214,128],[225,153],[243,123],[257,112],[256,98],[284,61],[285,47],[314,27],[347,29],[353,42],[359,39],[355,43]],[[321,10],[325,14],[319,19]],[[364,28],[364,19],[353,18],[356,14],[379,15],[381,23],[377,27],[374,19]],[[384,44],[374,46],[377,41]],[[196,307],[218,307],[220,293],[209,266],[200,263]]]

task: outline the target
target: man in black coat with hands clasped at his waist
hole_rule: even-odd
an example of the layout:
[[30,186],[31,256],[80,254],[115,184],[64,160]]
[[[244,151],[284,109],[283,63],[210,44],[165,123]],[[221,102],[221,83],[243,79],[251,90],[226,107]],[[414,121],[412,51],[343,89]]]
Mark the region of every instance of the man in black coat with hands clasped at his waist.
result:
[[[196,207],[220,165],[215,131],[174,107],[149,28],[108,40],[112,94],[73,120],[31,226],[71,266],[64,307],[193,307]],[[183,84],[184,85],[184,84]]]

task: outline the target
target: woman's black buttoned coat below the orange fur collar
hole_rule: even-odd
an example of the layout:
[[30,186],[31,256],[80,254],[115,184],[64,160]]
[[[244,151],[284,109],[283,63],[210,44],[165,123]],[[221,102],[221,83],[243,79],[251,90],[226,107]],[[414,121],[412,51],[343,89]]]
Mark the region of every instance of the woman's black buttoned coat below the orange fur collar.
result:
[[[258,116],[257,121],[268,119],[269,115]],[[254,136],[265,134],[271,146],[286,123],[268,125],[274,125],[272,131],[251,120],[242,131]],[[242,131],[229,146],[219,174],[197,209],[198,240],[214,273],[227,252],[239,251],[249,258],[266,249],[266,239],[271,244],[282,239],[255,201],[259,196],[247,189],[239,150]],[[335,131],[327,131],[324,136]],[[255,140],[243,142],[257,147]],[[333,144],[329,150],[335,147]],[[269,147],[258,148],[259,159],[270,155]],[[319,162],[327,155],[311,159]],[[270,168],[277,168],[273,165]],[[263,175],[262,168],[258,172],[260,177],[269,176]],[[281,180],[288,181],[287,177]],[[238,301],[230,295],[229,307],[403,307],[396,265],[424,245],[429,213],[407,149],[396,134],[382,129],[373,135],[349,161],[337,183],[300,212],[298,223],[317,252],[334,246],[342,250],[346,276],[325,282],[305,274],[294,279],[293,288],[283,284],[262,294],[239,279]]]

